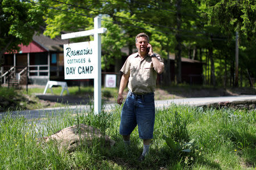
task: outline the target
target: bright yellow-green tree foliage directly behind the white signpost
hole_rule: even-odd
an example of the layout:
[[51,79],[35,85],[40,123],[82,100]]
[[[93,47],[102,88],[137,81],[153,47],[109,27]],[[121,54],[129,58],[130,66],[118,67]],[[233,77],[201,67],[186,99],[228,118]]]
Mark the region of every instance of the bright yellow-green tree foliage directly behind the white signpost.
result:
[[[98,1],[76,0],[65,2],[44,0],[44,3],[55,7],[48,8],[45,15],[47,27],[44,35],[54,38],[63,31],[77,32],[93,29],[93,18],[101,15],[102,27],[108,29],[105,34],[102,34],[102,69],[108,69],[110,65],[115,65],[117,59],[122,57],[121,49],[127,43],[127,36],[121,28],[120,18],[129,16],[126,16],[127,12],[116,10],[117,7],[122,6],[121,3],[109,1],[109,3],[103,4]],[[115,16],[120,18],[115,18]],[[88,37],[72,39],[72,41],[88,40]]]

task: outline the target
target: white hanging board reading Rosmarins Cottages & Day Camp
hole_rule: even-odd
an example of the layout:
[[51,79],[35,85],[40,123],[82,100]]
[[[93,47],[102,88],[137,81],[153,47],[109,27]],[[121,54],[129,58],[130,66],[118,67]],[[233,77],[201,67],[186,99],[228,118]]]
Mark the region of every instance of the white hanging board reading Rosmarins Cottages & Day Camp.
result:
[[65,79],[94,79],[97,54],[94,41],[64,44]]

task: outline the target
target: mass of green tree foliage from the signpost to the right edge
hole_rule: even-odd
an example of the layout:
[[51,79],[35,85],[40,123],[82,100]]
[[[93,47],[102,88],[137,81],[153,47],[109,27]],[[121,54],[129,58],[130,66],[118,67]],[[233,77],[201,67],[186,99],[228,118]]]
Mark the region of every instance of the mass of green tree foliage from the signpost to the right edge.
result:
[[[228,80],[234,74],[232,70],[234,35],[235,31],[239,31],[242,37],[241,44],[246,46],[246,50],[245,48],[240,50],[239,63],[242,76],[247,77],[246,70],[249,70],[251,76],[255,76],[253,63],[247,62],[251,56],[255,58],[255,54],[251,54],[255,46],[254,1],[83,2],[69,0],[62,2],[44,0],[41,3],[55,7],[48,8],[44,16],[47,23],[44,34],[51,37],[60,35],[61,31],[75,32],[92,29],[94,16],[102,16],[102,27],[108,29],[108,32],[102,35],[101,61],[104,70],[115,65],[115,72],[117,72],[117,65],[122,64],[118,59],[135,52],[134,37],[139,32],[146,32],[150,36],[154,52],[159,53],[163,58],[167,58],[168,54],[177,56],[177,49],[182,49],[179,57],[195,57],[197,60],[202,59],[201,61],[207,65],[213,62],[212,66],[204,67],[205,83],[210,82],[207,74],[209,69],[214,72],[211,74],[212,77],[216,75],[216,82],[220,82],[217,85],[222,86],[224,78],[221,77],[224,70],[227,71],[226,79]],[[88,37],[74,41],[82,40],[88,41]],[[127,49],[126,54],[122,53],[121,49]],[[207,50],[211,49],[213,55],[209,62]],[[178,66],[179,63],[175,65],[175,67]],[[166,66],[167,69],[170,68]],[[176,69],[175,74],[181,75],[179,70],[180,68]],[[243,82],[247,84],[247,79],[243,79]],[[232,82],[226,82],[226,84],[232,84]]]

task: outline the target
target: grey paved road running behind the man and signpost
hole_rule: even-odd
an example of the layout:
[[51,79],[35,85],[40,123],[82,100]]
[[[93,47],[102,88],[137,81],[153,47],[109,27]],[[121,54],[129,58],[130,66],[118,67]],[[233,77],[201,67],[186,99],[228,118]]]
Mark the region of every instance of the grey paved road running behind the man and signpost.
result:
[[[184,98],[184,99],[170,99],[170,100],[156,100],[156,108],[168,107],[171,104],[183,104],[183,105],[207,105],[219,102],[232,102],[241,100],[256,100],[256,95],[241,95],[241,96],[225,96],[225,97],[195,97],[195,98]],[[117,104],[106,104],[105,109],[112,109],[119,107]],[[54,116],[56,113],[63,114],[65,112],[72,112],[73,114],[81,113],[84,110],[90,109],[89,105],[76,105],[61,108],[47,108],[37,109],[32,111],[15,111],[13,114],[19,114],[25,118],[44,118],[48,116]],[[5,112],[0,112],[0,118]]]

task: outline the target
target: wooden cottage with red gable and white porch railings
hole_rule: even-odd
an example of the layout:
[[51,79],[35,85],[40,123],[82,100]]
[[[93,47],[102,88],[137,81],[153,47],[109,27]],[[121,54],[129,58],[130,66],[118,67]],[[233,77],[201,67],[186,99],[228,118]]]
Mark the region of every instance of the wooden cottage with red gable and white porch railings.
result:
[[[19,52],[5,53],[1,67],[2,83],[40,84],[64,80],[63,44],[68,40],[35,35],[29,45],[19,45]],[[6,76],[4,75],[6,74]],[[11,74],[10,76],[7,76]]]

